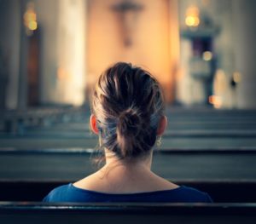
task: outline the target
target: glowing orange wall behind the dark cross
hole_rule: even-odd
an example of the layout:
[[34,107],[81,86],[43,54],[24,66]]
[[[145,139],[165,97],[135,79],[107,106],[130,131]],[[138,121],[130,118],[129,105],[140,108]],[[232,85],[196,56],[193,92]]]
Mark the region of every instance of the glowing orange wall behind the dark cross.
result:
[[130,16],[130,46],[125,46],[124,43],[121,32],[124,24],[120,14],[112,9],[113,5],[121,2],[124,1],[88,2],[89,88],[108,66],[117,61],[128,61],[152,72],[164,88],[166,101],[172,101],[179,45],[177,1],[133,1],[143,6],[143,9]]

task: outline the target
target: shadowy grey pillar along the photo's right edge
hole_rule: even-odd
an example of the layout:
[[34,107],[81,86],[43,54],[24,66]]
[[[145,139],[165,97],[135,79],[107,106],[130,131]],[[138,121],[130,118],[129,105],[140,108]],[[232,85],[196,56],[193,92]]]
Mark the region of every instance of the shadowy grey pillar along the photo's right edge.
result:
[[233,22],[235,65],[234,71],[241,73],[241,82],[236,88],[238,108],[256,108],[256,1],[234,0]]

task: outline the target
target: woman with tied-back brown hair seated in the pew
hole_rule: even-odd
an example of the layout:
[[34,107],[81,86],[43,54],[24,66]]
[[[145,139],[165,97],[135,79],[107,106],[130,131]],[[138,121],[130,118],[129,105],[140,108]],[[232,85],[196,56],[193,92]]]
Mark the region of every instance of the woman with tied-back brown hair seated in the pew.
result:
[[160,84],[127,63],[108,68],[91,99],[90,127],[106,164],[75,183],[55,188],[46,202],[211,202],[205,192],[177,186],[151,170],[153,146],[167,119]]

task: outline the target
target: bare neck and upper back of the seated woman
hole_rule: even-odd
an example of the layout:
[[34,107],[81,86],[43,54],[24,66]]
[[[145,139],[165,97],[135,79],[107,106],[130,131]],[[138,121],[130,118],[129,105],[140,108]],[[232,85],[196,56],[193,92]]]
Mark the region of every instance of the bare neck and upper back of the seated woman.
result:
[[95,174],[74,183],[96,192],[154,192],[177,187],[151,171],[152,152],[147,158],[120,160],[106,152],[106,164]]

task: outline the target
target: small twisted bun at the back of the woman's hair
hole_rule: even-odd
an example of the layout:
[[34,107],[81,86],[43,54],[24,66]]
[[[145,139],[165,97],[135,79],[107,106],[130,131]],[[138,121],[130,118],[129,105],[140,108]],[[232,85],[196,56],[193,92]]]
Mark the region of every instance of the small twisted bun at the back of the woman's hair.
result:
[[137,136],[142,129],[141,118],[137,110],[128,109],[119,114],[117,129],[119,135],[134,135]]

